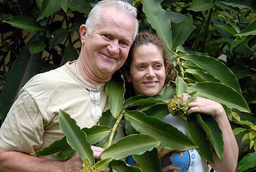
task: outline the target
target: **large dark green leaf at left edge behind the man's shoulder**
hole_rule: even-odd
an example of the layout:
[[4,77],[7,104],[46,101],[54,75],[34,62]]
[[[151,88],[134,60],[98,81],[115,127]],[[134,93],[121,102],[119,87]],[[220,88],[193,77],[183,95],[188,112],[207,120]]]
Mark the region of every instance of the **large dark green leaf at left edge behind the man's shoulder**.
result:
[[[33,40],[37,41],[38,39],[33,38],[31,41]],[[17,98],[19,90],[31,77],[39,73],[39,59],[41,56],[41,53],[30,54],[28,46],[25,46],[19,58],[11,66],[0,95],[0,119],[2,121],[4,121],[11,105]]]

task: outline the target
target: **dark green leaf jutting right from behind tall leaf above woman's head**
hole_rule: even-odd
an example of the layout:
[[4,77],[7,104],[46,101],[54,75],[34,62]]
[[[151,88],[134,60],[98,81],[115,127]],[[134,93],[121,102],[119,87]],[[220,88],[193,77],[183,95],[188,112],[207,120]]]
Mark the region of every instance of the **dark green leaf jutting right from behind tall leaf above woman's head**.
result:
[[191,15],[186,17],[181,23],[172,23],[172,49],[183,44],[193,29],[193,18]]

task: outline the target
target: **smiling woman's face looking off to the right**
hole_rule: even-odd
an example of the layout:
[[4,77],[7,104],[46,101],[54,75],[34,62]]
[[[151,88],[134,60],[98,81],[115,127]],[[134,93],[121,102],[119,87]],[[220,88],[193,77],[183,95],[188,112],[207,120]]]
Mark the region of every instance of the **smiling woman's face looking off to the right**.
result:
[[130,75],[126,78],[128,82],[133,83],[136,95],[157,95],[166,78],[161,50],[151,43],[134,49]]

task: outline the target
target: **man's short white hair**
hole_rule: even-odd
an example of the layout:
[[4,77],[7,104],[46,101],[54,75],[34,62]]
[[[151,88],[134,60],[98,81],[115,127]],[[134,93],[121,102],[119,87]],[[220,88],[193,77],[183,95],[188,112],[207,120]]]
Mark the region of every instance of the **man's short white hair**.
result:
[[86,20],[86,26],[87,26],[87,34],[91,34],[92,30],[95,28],[96,25],[101,25],[101,13],[102,8],[115,8],[119,11],[124,11],[127,14],[130,14],[135,19],[135,33],[133,35],[133,41],[135,40],[135,37],[139,30],[139,22],[137,20],[137,9],[133,7],[131,4],[129,4],[126,1],[116,1],[116,0],[104,0],[99,1],[90,11],[87,20]]

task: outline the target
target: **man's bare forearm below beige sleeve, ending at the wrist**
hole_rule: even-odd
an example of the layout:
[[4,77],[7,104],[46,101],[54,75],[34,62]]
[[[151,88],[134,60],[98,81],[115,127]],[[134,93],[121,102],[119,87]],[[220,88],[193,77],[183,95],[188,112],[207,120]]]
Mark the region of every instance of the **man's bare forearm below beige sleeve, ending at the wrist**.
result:
[[63,162],[38,158],[22,152],[4,151],[0,148],[1,172],[61,172]]

